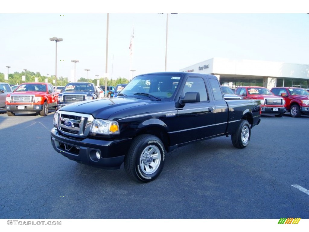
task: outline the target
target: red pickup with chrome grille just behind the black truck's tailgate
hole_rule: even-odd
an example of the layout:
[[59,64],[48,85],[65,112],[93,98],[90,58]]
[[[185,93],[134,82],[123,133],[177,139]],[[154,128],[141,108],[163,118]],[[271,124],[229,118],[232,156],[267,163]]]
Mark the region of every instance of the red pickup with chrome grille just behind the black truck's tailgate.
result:
[[286,112],[284,98],[275,96],[265,87],[243,86],[238,87],[235,93],[244,99],[260,100],[262,114],[272,114],[280,118]]

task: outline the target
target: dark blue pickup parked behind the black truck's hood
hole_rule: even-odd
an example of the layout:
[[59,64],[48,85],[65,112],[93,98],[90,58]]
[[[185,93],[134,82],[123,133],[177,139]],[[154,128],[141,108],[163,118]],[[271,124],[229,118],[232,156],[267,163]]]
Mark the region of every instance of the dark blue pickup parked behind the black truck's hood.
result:
[[58,96],[57,109],[74,102],[100,98],[96,86],[88,82],[68,83]]

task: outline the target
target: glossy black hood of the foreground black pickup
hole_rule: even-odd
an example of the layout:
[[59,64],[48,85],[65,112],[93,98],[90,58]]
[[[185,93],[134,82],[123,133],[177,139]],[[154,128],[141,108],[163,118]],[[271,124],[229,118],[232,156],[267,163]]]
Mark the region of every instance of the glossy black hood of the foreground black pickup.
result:
[[112,114],[128,108],[146,105],[151,102],[146,99],[135,98],[105,98],[89,101],[81,101],[63,106],[58,111],[70,111],[82,114],[92,114],[94,118],[108,119]]

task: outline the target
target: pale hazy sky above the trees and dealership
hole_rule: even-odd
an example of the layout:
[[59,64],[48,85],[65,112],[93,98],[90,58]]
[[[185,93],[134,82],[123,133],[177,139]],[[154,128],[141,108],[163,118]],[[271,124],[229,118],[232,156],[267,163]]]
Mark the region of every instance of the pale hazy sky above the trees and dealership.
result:
[[51,37],[63,39],[57,42],[57,77],[73,77],[71,60],[79,61],[76,79],[86,78],[85,69],[90,69],[89,79],[105,73],[109,79],[130,79],[130,70],[134,76],[164,71],[166,32],[167,71],[214,57],[309,64],[309,14],[303,12],[308,3],[303,2],[259,1],[237,7],[248,2],[90,0],[43,6],[35,0],[11,1],[0,10],[0,72],[11,66],[9,73],[27,69],[55,75],[56,42]]

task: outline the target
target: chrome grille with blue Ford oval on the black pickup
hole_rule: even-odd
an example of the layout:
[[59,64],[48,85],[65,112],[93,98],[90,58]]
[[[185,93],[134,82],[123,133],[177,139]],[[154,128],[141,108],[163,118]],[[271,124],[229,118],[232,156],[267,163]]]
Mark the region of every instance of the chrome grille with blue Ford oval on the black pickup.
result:
[[66,135],[86,137],[90,131],[93,119],[90,114],[59,111],[57,126]]

